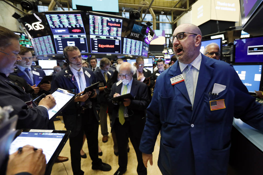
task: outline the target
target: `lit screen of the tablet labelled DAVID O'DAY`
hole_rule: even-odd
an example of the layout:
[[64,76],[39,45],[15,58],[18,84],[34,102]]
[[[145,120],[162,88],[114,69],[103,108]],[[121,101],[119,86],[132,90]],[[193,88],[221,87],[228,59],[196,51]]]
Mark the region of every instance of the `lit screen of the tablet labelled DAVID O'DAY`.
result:
[[43,149],[43,153],[45,154],[48,163],[64,135],[65,133],[21,132],[21,134],[11,143],[9,154],[16,152],[19,147],[31,145]]

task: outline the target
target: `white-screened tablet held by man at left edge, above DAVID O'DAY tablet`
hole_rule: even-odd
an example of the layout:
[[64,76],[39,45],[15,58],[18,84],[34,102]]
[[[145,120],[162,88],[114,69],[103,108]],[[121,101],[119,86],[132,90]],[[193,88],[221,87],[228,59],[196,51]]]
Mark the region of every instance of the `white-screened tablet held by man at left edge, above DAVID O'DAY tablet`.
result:
[[56,117],[76,96],[74,92],[57,88],[51,95],[56,100],[54,108],[48,110],[49,120]]

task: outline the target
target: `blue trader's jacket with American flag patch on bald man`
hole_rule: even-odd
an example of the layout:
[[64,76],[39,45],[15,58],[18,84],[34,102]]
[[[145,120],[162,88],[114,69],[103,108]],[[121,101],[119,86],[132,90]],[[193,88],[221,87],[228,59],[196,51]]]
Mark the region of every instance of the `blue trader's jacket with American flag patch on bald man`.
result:
[[[233,66],[202,54],[193,109],[185,82],[171,85],[182,72],[178,61],[157,78],[140,142],[151,154],[161,134],[158,166],[163,174],[227,174],[233,117],[263,131],[263,108],[250,96]],[[226,89],[210,97],[214,84]],[[224,99],[225,109],[210,102]]]

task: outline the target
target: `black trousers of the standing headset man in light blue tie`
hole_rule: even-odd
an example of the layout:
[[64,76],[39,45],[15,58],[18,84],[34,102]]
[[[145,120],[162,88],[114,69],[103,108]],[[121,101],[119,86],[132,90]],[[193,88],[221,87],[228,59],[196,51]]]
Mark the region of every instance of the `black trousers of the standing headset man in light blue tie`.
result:
[[98,158],[98,129],[99,123],[92,109],[86,109],[84,114],[81,114],[82,123],[79,133],[75,137],[69,137],[71,167],[74,175],[83,175],[84,172],[80,167],[80,150],[83,143],[83,134],[87,137],[89,156],[92,160],[92,165],[99,166],[102,160]]

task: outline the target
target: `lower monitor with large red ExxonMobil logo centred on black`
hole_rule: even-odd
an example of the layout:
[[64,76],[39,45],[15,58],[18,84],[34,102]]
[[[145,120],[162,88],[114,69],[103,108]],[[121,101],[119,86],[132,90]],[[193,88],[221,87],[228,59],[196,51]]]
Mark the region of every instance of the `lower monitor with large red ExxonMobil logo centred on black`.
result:
[[121,54],[121,37],[90,35],[91,53]]

